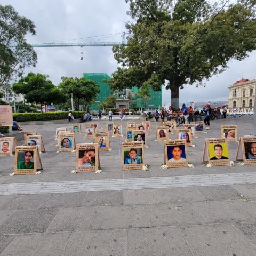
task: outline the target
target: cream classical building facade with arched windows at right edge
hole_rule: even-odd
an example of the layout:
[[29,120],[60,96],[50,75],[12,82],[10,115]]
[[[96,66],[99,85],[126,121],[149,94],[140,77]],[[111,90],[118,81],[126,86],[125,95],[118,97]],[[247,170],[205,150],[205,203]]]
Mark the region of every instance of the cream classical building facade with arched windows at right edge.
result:
[[254,107],[256,79],[241,79],[236,81],[229,88],[228,108],[229,109],[252,109]]

